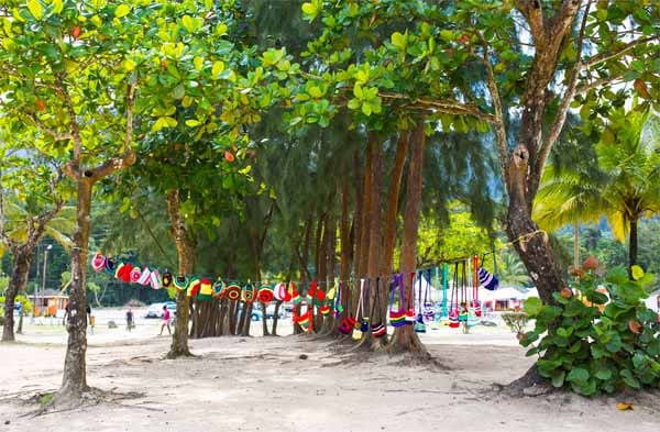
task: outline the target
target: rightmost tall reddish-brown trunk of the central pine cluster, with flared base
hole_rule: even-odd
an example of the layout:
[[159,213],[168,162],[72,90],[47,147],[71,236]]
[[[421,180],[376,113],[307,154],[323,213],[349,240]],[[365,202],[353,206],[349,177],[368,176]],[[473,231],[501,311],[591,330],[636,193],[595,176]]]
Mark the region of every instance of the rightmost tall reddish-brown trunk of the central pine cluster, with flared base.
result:
[[[414,289],[409,275],[417,267],[417,230],[421,211],[421,187],[424,166],[424,148],[426,135],[425,122],[419,120],[413,132],[410,143],[410,165],[408,168],[408,184],[406,189],[406,208],[404,215],[404,236],[402,240],[400,272],[404,274],[404,297],[406,307],[414,306]],[[411,352],[428,355],[419,341],[414,325],[396,328],[388,350],[393,353]]]

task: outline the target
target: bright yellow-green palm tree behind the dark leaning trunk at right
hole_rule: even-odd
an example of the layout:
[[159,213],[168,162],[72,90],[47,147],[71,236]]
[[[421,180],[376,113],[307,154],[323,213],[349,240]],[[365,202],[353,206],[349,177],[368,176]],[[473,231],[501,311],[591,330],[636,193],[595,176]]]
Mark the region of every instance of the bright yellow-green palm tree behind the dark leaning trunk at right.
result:
[[595,146],[597,169],[585,164],[548,167],[535,201],[535,220],[547,230],[607,218],[614,236],[628,235],[628,266],[637,263],[637,224],[660,212],[657,117],[616,110]]

